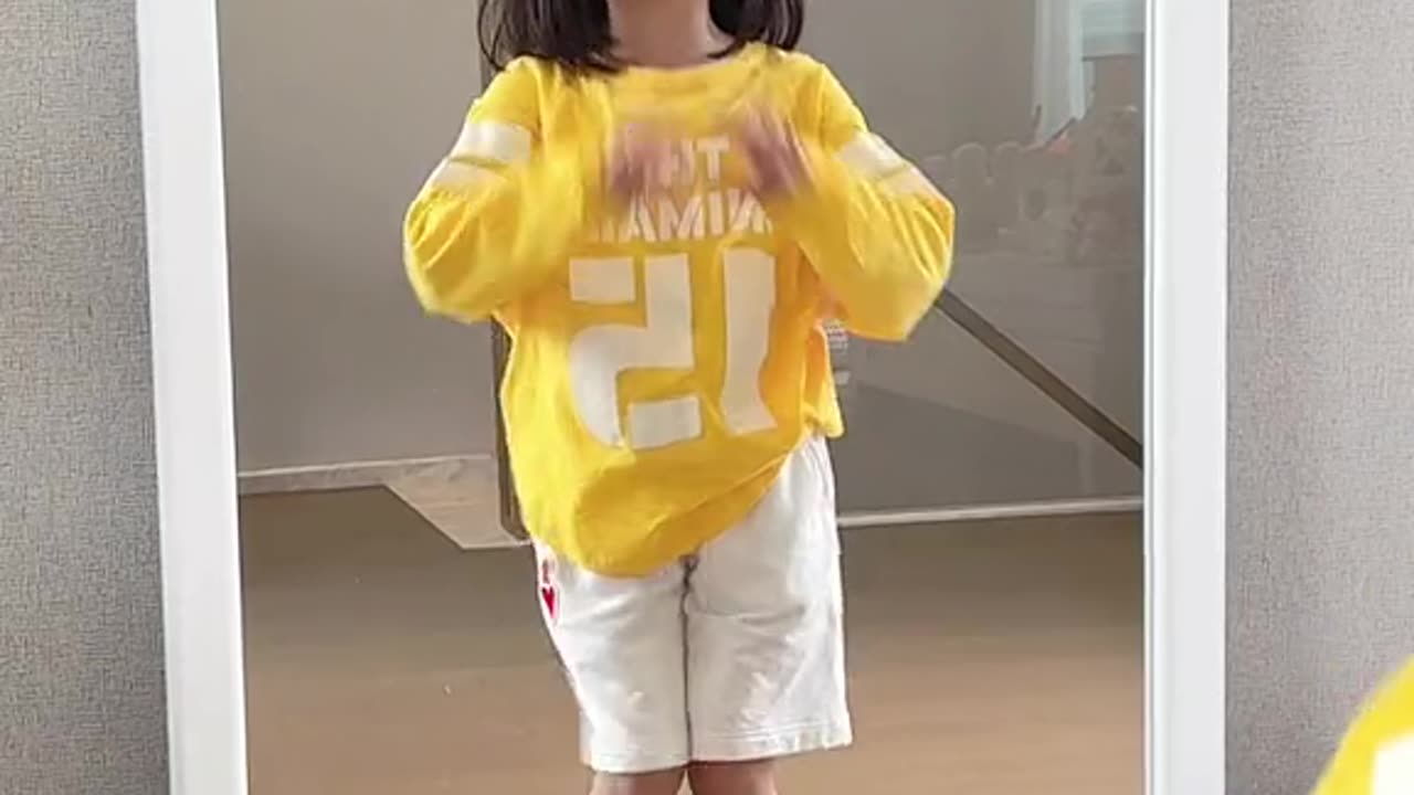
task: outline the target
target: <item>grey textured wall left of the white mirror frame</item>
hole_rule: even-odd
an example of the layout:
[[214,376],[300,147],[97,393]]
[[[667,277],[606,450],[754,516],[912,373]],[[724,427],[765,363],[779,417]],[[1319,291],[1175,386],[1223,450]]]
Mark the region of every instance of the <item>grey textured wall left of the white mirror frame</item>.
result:
[[0,794],[165,791],[130,0],[0,11]]

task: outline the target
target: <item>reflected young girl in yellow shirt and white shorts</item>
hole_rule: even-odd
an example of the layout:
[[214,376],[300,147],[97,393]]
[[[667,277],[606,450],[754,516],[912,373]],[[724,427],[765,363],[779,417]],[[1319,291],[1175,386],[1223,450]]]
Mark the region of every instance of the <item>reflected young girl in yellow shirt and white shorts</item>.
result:
[[802,0],[486,0],[503,71],[413,202],[421,303],[496,318],[594,795],[772,795],[850,743],[822,323],[902,340],[953,211],[789,52]]

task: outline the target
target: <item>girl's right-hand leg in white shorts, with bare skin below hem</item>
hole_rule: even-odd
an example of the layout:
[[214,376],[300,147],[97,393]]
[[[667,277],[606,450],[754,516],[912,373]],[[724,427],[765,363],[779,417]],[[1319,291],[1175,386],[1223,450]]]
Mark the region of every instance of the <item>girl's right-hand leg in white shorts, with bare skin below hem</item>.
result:
[[696,795],[775,795],[771,760],[850,744],[843,598],[829,448],[810,440],[689,566]]

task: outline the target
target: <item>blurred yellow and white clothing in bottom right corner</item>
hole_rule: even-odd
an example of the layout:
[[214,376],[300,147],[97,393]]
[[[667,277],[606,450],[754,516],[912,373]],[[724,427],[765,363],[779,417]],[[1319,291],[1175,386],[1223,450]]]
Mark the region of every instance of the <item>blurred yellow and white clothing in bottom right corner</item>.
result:
[[1315,795],[1414,794],[1414,661],[1366,704]]

